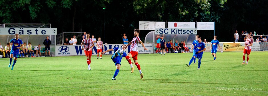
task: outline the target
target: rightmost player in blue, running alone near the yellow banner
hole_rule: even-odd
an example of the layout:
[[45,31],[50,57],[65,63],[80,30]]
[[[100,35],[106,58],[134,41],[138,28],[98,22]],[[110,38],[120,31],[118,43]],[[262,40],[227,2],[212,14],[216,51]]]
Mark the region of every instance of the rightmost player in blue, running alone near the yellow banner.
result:
[[216,59],[216,53],[217,53],[217,49],[218,49],[218,45],[219,45],[219,50],[221,50],[220,48],[220,43],[217,40],[217,36],[214,36],[214,39],[211,41],[211,45],[210,45],[210,49],[211,49],[211,54],[214,57],[214,60]]

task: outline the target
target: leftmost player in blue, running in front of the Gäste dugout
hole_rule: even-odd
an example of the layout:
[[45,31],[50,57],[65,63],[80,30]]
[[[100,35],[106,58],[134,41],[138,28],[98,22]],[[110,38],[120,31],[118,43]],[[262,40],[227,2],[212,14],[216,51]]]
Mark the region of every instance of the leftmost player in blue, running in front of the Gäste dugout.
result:
[[[11,67],[11,70],[13,70],[14,65],[15,65],[16,62],[17,62],[17,58],[18,58],[18,54],[19,54],[19,50],[20,50],[20,48],[23,47],[23,42],[22,42],[21,39],[19,39],[19,34],[15,34],[15,39],[11,39],[11,40],[9,41],[9,46],[10,46],[10,43],[13,43],[13,46],[12,46],[12,48],[11,48],[11,52],[10,52],[11,56],[10,56],[10,59],[9,59],[10,63],[9,63],[9,65],[8,65],[8,67],[11,66],[11,62],[12,62],[12,59],[13,59],[13,56],[14,56],[14,57],[15,57],[15,58],[14,58],[14,62],[13,62],[13,65],[12,65],[12,67]],[[9,47],[8,50],[10,50],[10,47]]]

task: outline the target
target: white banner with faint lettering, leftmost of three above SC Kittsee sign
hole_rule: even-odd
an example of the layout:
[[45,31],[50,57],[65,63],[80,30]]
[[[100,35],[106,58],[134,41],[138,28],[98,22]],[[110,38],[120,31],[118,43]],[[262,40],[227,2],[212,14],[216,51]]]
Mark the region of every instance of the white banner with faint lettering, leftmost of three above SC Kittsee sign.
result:
[[166,22],[139,21],[139,30],[155,30],[155,28],[166,28]]

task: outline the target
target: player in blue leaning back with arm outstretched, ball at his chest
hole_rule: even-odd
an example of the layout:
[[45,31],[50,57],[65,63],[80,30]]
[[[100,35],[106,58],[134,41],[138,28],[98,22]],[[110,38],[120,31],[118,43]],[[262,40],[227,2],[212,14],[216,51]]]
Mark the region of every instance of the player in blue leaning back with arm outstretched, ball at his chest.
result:
[[[123,44],[121,48],[122,48],[123,50],[125,50],[126,45]],[[106,50],[106,51],[104,51],[104,52],[101,53],[101,54],[105,54],[106,52],[114,51],[114,54],[112,55],[111,59],[112,59],[113,62],[115,63],[116,70],[115,70],[115,72],[114,72],[114,75],[113,75],[112,80],[116,80],[115,77],[116,77],[117,74],[119,73],[119,70],[120,70],[120,67],[121,67],[121,60],[122,60],[123,57],[126,57],[126,56],[127,56],[126,52],[123,52],[123,54],[119,54],[118,49],[119,49],[118,47],[115,47],[115,48]]]

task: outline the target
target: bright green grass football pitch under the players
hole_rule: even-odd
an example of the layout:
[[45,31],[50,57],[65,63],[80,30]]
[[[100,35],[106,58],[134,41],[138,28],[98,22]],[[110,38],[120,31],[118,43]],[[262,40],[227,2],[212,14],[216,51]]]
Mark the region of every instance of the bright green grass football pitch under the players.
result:
[[[9,58],[0,59],[0,95],[268,95],[267,51],[251,51],[249,64],[241,65],[242,52],[205,52],[200,70],[186,63],[192,53],[139,54],[134,73],[125,58],[117,80],[111,55],[18,58],[14,70]],[[14,59],[13,59],[14,60]],[[132,59],[131,59],[132,60]],[[133,60],[132,60],[133,61]]]

